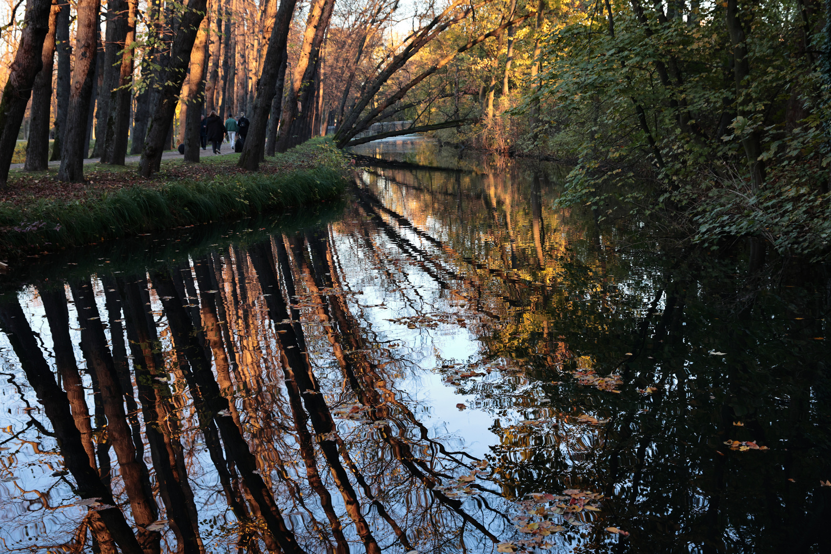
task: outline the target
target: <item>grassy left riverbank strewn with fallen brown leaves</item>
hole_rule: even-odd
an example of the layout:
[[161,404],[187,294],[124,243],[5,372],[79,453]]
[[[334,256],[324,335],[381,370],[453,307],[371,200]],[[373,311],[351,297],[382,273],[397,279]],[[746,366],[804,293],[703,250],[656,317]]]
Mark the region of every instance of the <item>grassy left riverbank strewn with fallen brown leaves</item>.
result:
[[58,182],[52,168],[12,171],[0,193],[0,260],[336,199],[346,184],[347,158],[324,140],[268,158],[256,173],[239,169],[238,155],[165,161],[153,179],[129,164],[89,164],[86,183]]

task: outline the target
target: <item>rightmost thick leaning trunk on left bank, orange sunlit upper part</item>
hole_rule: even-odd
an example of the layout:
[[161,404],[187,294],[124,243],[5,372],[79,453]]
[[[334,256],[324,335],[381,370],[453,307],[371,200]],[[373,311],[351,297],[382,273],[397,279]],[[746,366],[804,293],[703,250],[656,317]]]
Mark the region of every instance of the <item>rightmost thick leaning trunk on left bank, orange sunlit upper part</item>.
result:
[[297,138],[293,136],[293,125],[297,114],[301,110],[310,110],[309,101],[314,96],[314,73],[317,69],[317,56],[323,37],[329,27],[329,18],[332,17],[334,0],[315,0],[306,20],[306,32],[303,35],[302,49],[294,68],[294,83],[288,91],[286,108],[280,119],[280,135],[277,140],[277,151],[285,152],[297,145]]

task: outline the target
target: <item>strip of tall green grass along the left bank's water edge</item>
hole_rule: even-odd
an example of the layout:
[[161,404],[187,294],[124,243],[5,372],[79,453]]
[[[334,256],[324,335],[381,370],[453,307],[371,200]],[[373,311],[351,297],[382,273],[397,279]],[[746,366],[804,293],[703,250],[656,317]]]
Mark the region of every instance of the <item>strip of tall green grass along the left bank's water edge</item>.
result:
[[342,173],[317,168],[135,185],[86,201],[0,203],[0,255],[251,216],[336,198],[344,188]]

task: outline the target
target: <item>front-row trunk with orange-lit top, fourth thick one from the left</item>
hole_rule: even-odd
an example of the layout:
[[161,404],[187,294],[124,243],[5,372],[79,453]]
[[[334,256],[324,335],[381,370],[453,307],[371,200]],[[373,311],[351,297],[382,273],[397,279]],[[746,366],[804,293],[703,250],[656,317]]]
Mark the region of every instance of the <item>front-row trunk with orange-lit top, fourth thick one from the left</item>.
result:
[[[126,33],[124,44],[135,42],[135,10],[138,0],[127,0]],[[122,49],[125,46],[121,47]],[[133,56],[135,50],[125,50],[121,54],[118,90],[111,96],[111,110],[107,118],[106,150],[101,154],[101,162],[124,165],[127,154],[127,142],[130,135],[130,107],[133,101],[130,84],[133,81]]]

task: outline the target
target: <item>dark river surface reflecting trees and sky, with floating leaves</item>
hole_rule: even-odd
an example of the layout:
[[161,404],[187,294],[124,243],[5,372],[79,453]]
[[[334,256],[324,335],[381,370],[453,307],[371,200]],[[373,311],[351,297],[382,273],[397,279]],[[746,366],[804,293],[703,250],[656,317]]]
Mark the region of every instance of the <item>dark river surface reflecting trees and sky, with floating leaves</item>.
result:
[[405,164],[4,278],[0,550],[829,552],[824,267],[361,153]]

